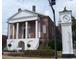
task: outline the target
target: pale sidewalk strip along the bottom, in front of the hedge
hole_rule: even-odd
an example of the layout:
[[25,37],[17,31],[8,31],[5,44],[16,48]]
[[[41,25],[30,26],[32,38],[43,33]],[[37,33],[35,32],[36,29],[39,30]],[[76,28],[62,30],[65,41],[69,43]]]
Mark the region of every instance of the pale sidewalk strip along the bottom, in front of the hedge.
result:
[[[55,59],[55,58],[37,58],[37,57],[13,57],[13,56],[2,56],[2,59]],[[57,59],[76,59],[76,58],[57,58]]]

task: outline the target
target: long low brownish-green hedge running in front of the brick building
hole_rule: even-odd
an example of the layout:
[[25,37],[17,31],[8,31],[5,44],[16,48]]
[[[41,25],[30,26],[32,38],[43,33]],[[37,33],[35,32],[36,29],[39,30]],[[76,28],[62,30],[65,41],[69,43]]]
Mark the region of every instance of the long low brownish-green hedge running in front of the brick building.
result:
[[26,50],[23,52],[11,52],[9,56],[23,56],[23,57],[54,57],[54,50],[40,49],[40,50]]

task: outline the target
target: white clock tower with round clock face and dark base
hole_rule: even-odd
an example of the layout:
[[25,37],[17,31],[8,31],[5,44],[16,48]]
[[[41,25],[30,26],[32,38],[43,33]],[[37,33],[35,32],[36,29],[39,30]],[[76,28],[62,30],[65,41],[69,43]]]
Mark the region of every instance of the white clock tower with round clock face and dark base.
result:
[[74,57],[72,42],[72,11],[67,10],[59,12],[62,31],[62,57]]

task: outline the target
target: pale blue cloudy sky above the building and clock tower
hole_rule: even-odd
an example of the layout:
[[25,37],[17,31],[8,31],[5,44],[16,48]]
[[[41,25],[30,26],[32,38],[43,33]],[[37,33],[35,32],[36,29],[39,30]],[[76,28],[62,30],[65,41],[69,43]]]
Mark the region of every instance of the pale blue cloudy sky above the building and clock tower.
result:
[[[36,12],[48,15],[53,21],[53,14],[48,0],[2,0],[2,34],[7,35],[8,18],[18,12],[18,8],[32,11],[33,5],[36,6]],[[59,21],[59,11],[62,11],[65,6],[68,10],[72,10],[72,15],[76,17],[75,0],[56,0],[56,5],[53,6],[55,9],[56,24]]]

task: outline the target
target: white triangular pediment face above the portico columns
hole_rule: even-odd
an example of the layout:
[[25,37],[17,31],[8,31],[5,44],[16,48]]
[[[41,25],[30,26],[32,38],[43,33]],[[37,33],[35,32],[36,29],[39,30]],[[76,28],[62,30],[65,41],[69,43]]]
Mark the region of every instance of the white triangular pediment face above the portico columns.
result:
[[20,12],[16,13],[12,17],[10,17],[10,19],[30,17],[30,16],[37,16],[37,15],[38,14],[36,14],[36,13],[30,12],[30,11],[27,11],[27,10],[23,10],[23,11],[20,11]]

